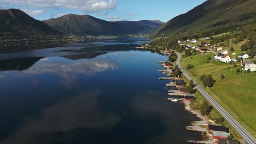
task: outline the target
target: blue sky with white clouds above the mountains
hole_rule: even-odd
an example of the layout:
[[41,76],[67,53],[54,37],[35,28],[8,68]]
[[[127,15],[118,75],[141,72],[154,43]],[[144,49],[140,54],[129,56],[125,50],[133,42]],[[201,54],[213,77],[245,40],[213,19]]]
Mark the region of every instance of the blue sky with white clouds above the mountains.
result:
[[37,20],[66,14],[91,15],[107,21],[167,22],[207,0],[0,0],[0,9],[21,9]]

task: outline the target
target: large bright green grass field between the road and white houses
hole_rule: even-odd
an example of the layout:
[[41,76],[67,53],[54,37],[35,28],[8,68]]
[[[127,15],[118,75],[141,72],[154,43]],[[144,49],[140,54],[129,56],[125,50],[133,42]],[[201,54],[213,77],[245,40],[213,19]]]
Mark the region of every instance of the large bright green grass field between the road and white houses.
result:
[[[194,65],[192,70],[187,70],[195,80],[201,84],[202,74],[211,74],[216,83],[211,88],[205,88],[212,97],[222,105],[234,118],[237,119],[254,137],[256,137],[256,73],[236,73],[241,69],[240,63],[234,68],[234,64],[225,64],[212,59],[206,63],[207,57],[213,57],[213,53],[206,56],[193,55],[182,60],[183,68],[188,64]],[[194,75],[192,75],[192,73]],[[221,79],[223,74],[225,79]]]

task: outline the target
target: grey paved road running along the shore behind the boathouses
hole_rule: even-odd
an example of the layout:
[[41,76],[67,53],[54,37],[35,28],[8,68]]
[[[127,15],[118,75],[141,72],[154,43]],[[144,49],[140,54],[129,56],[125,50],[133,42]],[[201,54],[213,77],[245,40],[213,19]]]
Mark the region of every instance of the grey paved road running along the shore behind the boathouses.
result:
[[[188,80],[193,80],[191,76],[189,76],[181,67],[181,65],[179,64],[179,61],[181,60],[181,55],[176,52],[178,55],[178,60],[177,60],[177,64],[179,66],[179,68],[181,68],[183,74],[188,78]],[[233,118],[226,110],[223,109],[222,106],[220,106],[217,101],[215,101],[210,94],[208,94],[200,85],[198,85],[196,83],[195,80],[193,80],[196,88],[198,89],[198,91],[208,100],[210,101],[210,103],[215,107],[215,109],[217,109],[222,115],[223,117],[238,131],[238,133],[240,133],[243,138],[246,140],[246,143],[249,144],[256,144],[256,139],[245,129],[242,127],[242,125],[240,123],[238,123],[236,121],[235,118]]]

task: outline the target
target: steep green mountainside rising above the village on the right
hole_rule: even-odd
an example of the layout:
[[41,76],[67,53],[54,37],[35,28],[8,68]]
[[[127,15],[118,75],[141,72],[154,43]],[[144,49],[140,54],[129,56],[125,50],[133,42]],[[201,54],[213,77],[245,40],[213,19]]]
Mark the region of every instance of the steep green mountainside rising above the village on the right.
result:
[[255,0],[208,0],[188,13],[174,17],[151,37],[205,37],[255,23]]

